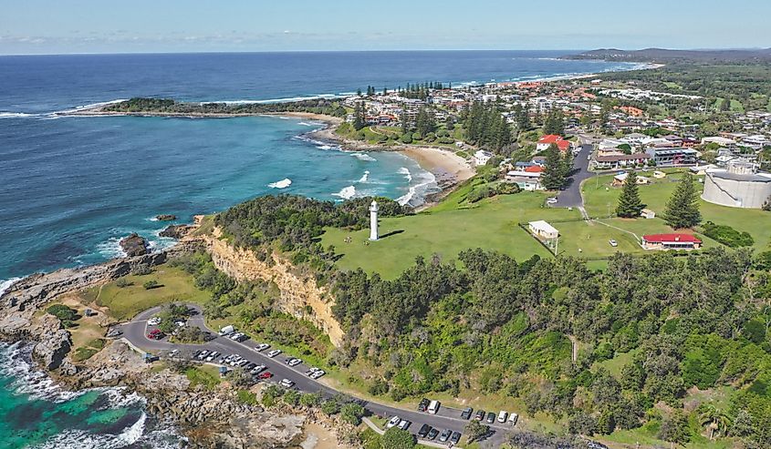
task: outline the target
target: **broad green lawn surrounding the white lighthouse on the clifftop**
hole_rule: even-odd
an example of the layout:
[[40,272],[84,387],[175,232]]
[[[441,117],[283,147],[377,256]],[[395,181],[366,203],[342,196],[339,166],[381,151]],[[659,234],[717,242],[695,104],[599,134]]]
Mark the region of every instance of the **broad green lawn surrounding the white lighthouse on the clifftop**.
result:
[[[462,199],[470,189],[464,186],[438,206],[417,215],[380,219],[380,241],[366,244],[369,230],[327,229],[322,243],[325,247],[335,246],[342,256],[340,268],[361,267],[393,279],[416,257],[431,258],[433,253],[445,261],[454,260],[460,251],[470,248],[499,250],[517,260],[534,254],[549,257],[549,252],[517,223],[580,217],[578,210],[545,208],[548,195],[536,192],[503,195],[466,206]],[[350,243],[345,242],[347,237],[352,239]]]

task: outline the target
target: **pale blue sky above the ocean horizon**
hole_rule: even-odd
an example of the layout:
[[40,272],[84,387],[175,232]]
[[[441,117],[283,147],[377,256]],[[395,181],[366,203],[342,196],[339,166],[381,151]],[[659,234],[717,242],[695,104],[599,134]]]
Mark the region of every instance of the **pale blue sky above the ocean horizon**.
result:
[[771,46],[767,0],[0,0],[0,54]]

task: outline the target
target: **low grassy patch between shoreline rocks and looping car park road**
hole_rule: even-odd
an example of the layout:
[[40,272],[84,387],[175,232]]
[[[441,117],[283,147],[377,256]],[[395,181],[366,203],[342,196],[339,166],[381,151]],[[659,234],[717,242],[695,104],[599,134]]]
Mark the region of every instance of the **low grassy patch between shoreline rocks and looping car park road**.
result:
[[[195,288],[193,276],[168,265],[156,267],[155,271],[145,276],[129,275],[121,279],[131,284],[118,287],[117,281],[112,281],[101,287],[91,288],[82,293],[83,301],[96,302],[99,307],[107,307],[109,316],[124,321],[159,304],[173,301],[203,304],[211,296],[209,292]],[[142,284],[147,281],[158,281],[161,287],[145,290]]]

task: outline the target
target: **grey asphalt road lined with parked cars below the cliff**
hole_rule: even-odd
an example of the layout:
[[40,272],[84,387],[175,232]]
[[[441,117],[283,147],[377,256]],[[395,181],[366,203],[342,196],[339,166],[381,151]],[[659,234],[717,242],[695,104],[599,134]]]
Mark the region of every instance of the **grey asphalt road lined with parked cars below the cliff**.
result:
[[[131,342],[131,344],[147,352],[162,353],[176,349],[179,350],[180,356],[188,357],[192,357],[194,352],[201,350],[222,352],[223,354],[238,354],[249,362],[266,365],[267,371],[273,372],[274,374],[271,382],[277,383],[282,379],[289,379],[295,383],[293,388],[296,388],[299,391],[306,393],[321,392],[326,397],[333,397],[342,393],[334,390],[333,388],[330,388],[324,383],[320,383],[308,378],[305,375],[305,372],[307,372],[307,369],[309,368],[307,364],[300,363],[295,367],[290,367],[287,365],[284,362],[287,359],[286,354],[279,354],[276,356],[276,358],[272,359],[264,352],[256,351],[255,348],[258,342],[253,342],[252,340],[247,340],[245,342],[235,342],[229,338],[218,336],[217,332],[214,332],[206,327],[206,324],[203,321],[203,312],[201,311],[201,308],[193,304],[188,304],[188,306],[195,311],[193,316],[188,320],[188,325],[195,325],[203,329],[205,332],[213,333],[216,335],[214,340],[211,342],[205,342],[203,344],[177,344],[168,342],[168,339],[161,341],[148,339],[147,334],[153,328],[148,326],[147,321],[152,317],[152,315],[161,311],[161,307],[155,307],[148,311],[143,311],[138,314],[132,321],[116,326],[115,329],[123,332],[122,337]],[[280,348],[271,347],[270,349]],[[267,351],[269,350],[266,350],[265,352]],[[453,432],[460,432],[463,434],[464,426],[466,423],[468,423],[467,420],[461,418],[461,410],[454,409],[452,407],[441,406],[439,412],[436,414],[421,413],[416,410],[405,410],[391,407],[390,405],[365,401],[356,397],[352,397],[346,393],[342,394],[351,397],[352,399],[359,400],[359,403],[361,403],[364,408],[366,408],[372,414],[389,418],[391,416],[399,416],[401,419],[411,421],[412,424],[408,430],[413,434],[417,434],[423,423],[427,423],[432,427],[439,429],[440,432],[444,429],[450,429]],[[474,409],[474,413],[475,412],[476,410]],[[487,412],[495,413],[497,418],[497,413],[499,411],[491,410]],[[488,425],[490,425],[491,434],[482,442],[481,445],[483,447],[500,446],[505,442],[505,434],[507,432],[513,431],[513,427],[508,423],[499,424],[495,422],[494,424]],[[434,442],[437,443],[438,439]]]

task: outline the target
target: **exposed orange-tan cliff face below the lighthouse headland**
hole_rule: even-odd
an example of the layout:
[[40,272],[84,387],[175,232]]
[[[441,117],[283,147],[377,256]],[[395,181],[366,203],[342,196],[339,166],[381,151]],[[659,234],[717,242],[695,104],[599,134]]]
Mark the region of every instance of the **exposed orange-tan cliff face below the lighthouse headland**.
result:
[[342,344],[345,333],[332,314],[335,300],[326,289],[318,288],[312,278],[297,276],[292,265],[276,254],[272,255],[276,263],[268,265],[257,259],[252,250],[240,250],[220,240],[221,235],[221,230],[215,229],[214,235],[202,238],[217,269],[241,281],[262,279],[275,282],[281,291],[281,297],[276,301],[281,311],[312,322],[328,334],[329,341],[336,347]]

